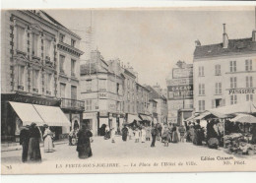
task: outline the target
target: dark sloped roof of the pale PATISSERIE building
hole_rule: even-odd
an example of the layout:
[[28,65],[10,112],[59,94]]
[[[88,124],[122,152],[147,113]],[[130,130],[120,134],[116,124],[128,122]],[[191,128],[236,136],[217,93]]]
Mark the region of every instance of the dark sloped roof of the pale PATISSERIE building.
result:
[[252,38],[229,39],[227,48],[223,43],[197,46],[194,52],[195,58],[204,58],[220,55],[256,52],[256,42]]

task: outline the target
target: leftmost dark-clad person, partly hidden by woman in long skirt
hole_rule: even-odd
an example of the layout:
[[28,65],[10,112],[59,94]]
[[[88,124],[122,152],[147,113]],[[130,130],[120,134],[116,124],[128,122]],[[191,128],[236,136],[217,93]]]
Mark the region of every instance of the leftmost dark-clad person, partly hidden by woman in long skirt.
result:
[[26,125],[21,130],[20,134],[20,145],[23,146],[22,161],[26,162],[28,160],[28,151],[30,143],[30,125]]

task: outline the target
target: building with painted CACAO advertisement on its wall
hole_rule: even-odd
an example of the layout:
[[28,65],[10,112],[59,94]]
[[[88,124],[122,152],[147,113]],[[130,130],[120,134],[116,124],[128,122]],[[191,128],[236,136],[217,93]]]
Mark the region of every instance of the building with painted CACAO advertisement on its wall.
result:
[[166,78],[168,123],[182,124],[193,111],[193,65],[178,61]]

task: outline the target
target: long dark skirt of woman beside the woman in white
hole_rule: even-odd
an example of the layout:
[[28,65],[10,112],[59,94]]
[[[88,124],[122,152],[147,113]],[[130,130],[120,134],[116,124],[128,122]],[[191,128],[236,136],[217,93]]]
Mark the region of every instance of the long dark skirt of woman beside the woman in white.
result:
[[40,162],[41,152],[38,138],[31,138],[29,143],[28,161]]

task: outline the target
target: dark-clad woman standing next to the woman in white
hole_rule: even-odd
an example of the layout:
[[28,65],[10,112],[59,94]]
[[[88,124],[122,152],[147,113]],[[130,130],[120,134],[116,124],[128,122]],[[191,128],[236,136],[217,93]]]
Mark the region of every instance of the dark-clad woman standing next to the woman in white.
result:
[[28,152],[28,161],[41,162],[40,143],[41,135],[35,123],[32,123],[30,128],[30,143]]

